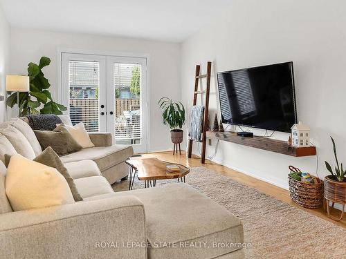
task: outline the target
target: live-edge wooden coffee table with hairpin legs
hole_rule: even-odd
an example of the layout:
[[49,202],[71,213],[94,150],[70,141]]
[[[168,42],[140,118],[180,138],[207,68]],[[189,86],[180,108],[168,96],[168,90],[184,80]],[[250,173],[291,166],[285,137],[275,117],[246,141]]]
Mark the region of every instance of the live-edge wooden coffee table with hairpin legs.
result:
[[129,190],[134,186],[134,179],[144,181],[145,188],[156,186],[156,180],[164,179],[178,179],[178,182],[185,182],[185,175],[190,172],[188,167],[181,164],[176,164],[180,168],[180,172],[170,173],[166,170],[169,163],[158,160],[157,158],[143,158],[127,160],[126,164],[130,166],[129,169]]

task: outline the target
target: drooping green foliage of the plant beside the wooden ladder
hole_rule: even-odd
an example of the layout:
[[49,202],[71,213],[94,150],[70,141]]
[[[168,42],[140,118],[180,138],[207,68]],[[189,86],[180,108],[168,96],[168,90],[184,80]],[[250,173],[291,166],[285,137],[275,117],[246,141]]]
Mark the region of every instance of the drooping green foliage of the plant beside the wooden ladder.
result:
[[172,102],[172,99],[162,97],[158,101],[158,105],[163,111],[163,124],[174,131],[183,127],[183,124],[185,124],[185,108],[181,102]]

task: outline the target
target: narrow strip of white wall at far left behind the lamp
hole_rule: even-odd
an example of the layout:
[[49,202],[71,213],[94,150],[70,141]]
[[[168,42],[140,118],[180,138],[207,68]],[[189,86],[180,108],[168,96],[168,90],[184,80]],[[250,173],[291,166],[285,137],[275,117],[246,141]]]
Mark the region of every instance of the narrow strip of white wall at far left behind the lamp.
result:
[[[0,6],[0,95],[6,97],[6,74],[10,61],[10,26]],[[0,101],[0,122],[7,119],[6,103]]]

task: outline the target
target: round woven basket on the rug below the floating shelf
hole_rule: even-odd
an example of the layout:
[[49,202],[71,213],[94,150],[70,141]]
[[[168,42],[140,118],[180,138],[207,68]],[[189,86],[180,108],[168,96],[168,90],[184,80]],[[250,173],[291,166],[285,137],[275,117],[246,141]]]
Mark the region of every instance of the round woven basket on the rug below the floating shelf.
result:
[[304,208],[320,208],[323,204],[323,182],[310,184],[289,176],[289,195],[295,203]]

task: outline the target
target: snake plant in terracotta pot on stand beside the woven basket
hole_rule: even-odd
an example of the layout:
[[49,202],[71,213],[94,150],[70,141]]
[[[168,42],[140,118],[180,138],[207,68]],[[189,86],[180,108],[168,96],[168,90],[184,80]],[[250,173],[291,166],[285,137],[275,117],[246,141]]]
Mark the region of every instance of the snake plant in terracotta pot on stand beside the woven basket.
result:
[[[325,166],[331,173],[331,175],[327,175],[325,177],[325,199],[327,202],[327,213],[329,218],[332,218],[334,220],[342,220],[346,204],[346,170],[344,171],[343,169],[343,163],[341,163],[339,166],[338,156],[336,155],[336,145],[333,137],[330,138],[331,142],[333,143],[336,166],[334,172],[333,169],[331,169],[330,164],[325,161]],[[329,202],[332,202],[332,207],[334,207],[335,203],[343,204],[343,210],[341,212],[340,218],[335,218],[330,215]]]

